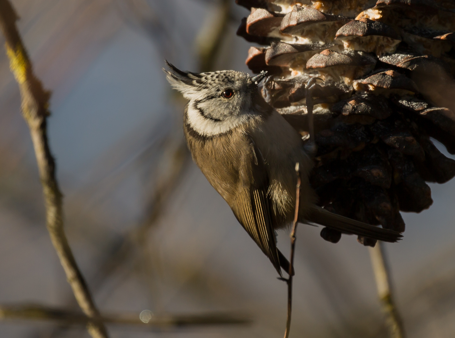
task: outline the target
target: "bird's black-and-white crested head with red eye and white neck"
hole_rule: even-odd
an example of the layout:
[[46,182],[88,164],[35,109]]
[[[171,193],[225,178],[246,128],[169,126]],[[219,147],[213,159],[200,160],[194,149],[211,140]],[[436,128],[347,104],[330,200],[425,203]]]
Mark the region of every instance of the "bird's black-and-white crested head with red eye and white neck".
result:
[[239,71],[198,74],[166,65],[167,81],[190,100],[187,123],[202,136],[222,134],[270,109],[258,92],[267,72],[254,77]]

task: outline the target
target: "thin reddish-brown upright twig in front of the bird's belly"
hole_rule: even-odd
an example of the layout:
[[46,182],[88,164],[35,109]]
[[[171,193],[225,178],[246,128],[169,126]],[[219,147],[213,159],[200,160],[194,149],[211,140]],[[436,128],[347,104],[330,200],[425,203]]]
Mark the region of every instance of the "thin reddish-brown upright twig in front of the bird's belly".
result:
[[289,337],[289,330],[291,329],[291,315],[292,315],[292,278],[294,276],[294,253],[295,253],[295,232],[297,230],[297,219],[298,219],[298,201],[300,199],[300,170],[298,167],[298,162],[295,164],[295,172],[297,175],[297,186],[295,191],[295,212],[294,219],[292,221],[292,231],[291,231],[291,257],[289,259],[289,277],[284,279],[288,284],[288,318],[286,320],[286,331],[284,331],[284,338]]

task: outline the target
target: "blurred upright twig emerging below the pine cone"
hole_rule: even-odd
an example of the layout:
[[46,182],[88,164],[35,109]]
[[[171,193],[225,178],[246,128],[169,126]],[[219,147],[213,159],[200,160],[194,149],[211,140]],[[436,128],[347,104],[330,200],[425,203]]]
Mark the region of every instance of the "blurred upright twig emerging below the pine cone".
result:
[[403,322],[396,308],[391,287],[390,272],[384,256],[384,243],[378,241],[375,247],[369,248],[374,277],[378,287],[378,296],[387,316],[391,338],[405,338]]

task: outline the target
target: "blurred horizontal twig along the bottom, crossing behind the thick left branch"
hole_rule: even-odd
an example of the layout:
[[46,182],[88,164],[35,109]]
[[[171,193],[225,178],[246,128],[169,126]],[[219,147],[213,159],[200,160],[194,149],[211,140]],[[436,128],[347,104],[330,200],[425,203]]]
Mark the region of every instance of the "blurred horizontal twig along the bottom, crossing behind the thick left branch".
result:
[[[91,321],[80,312],[42,305],[0,305],[0,319],[51,320],[67,324],[86,324]],[[233,313],[199,313],[191,315],[151,315],[143,321],[139,313],[101,315],[104,323],[117,325],[142,325],[152,328],[169,328],[199,325],[248,324],[251,319],[246,315]]]

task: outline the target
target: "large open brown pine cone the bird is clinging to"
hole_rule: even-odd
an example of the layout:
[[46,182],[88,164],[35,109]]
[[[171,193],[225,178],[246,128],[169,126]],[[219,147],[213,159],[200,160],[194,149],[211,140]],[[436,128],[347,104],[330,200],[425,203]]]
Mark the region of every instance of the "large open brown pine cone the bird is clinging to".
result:
[[[447,96],[441,88],[455,94],[455,2],[236,2],[251,9],[237,34],[264,45],[250,48],[246,64],[269,72],[265,100],[302,136],[305,84],[324,80],[313,92],[318,152],[310,182],[319,204],[403,232],[400,210],[421,212],[433,203],[425,182],[455,176],[455,161],[430,140],[455,153],[455,114],[435,103],[450,102],[438,100]],[[339,240],[328,229],[321,236]]]

